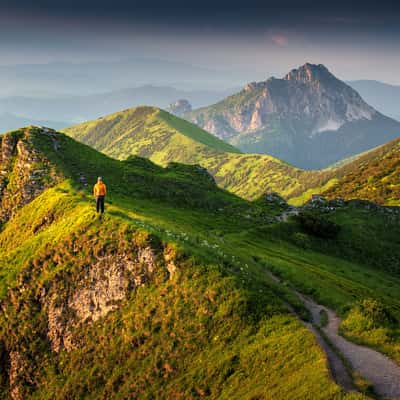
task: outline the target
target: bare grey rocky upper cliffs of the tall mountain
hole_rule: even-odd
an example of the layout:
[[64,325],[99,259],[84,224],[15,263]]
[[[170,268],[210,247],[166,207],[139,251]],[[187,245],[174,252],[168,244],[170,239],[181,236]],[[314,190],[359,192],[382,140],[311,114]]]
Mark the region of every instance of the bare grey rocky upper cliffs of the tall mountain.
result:
[[[296,120],[303,120],[308,127],[306,134],[312,136],[337,130],[347,122],[370,120],[377,113],[323,65],[305,64],[290,71],[283,79],[252,82],[246,85],[243,93],[245,102],[238,102],[233,109],[223,112],[226,125],[236,132],[257,131],[270,120],[285,119],[292,121],[292,125]],[[194,122],[201,124],[203,117],[202,113],[195,114]],[[212,118],[220,119],[221,115],[215,113]],[[214,126],[212,133],[226,136],[227,132],[215,131],[215,124],[205,123],[209,128]]]

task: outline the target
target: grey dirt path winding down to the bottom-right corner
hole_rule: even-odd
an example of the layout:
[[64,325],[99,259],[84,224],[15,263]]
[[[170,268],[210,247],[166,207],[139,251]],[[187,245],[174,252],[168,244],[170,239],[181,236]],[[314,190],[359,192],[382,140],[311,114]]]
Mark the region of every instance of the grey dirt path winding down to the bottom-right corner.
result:
[[[280,282],[280,279],[271,272],[268,272],[268,275],[275,282]],[[353,370],[358,372],[364,379],[368,380],[374,386],[375,392],[380,397],[400,399],[400,367],[390,358],[378,351],[354,344],[340,336],[339,325],[341,319],[333,310],[315,303],[301,293],[295,293],[303,301],[312,315],[312,324],[303,323],[314,333],[318,344],[321,346],[322,350],[324,350],[335,381],[346,391],[356,390],[342,359],[323,338],[318,329],[316,329],[316,326],[320,326],[321,323],[321,310],[326,312],[328,324],[325,327],[320,327],[320,329],[324,332],[330,343],[332,343],[346,361],[351,364]],[[289,309],[294,312],[290,305]]]

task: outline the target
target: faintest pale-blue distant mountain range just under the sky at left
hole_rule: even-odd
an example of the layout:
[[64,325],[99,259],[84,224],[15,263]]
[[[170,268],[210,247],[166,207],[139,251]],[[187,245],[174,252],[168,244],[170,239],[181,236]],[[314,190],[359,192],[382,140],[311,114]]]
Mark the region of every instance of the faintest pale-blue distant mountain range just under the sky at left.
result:
[[1,95],[4,97],[84,96],[149,83],[186,91],[213,91],[215,88],[219,90],[237,86],[242,79],[242,73],[229,69],[221,71],[185,62],[140,56],[109,61],[0,66]]

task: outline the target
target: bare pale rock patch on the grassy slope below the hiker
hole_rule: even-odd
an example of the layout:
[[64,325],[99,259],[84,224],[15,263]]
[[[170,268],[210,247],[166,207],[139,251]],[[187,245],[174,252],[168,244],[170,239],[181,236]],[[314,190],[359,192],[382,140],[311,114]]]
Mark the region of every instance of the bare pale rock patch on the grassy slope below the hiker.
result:
[[43,293],[51,348],[73,350],[73,330],[115,311],[130,292],[150,282],[156,270],[156,254],[150,247],[139,249],[137,257],[106,256],[90,265],[76,287],[65,296],[57,285]]

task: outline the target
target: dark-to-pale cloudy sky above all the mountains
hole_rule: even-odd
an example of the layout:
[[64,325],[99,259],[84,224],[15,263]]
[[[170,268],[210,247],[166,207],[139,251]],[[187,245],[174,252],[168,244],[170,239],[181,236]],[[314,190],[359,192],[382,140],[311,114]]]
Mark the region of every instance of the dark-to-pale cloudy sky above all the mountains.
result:
[[313,62],[400,85],[400,2],[0,0],[0,65],[130,57],[243,80]]

